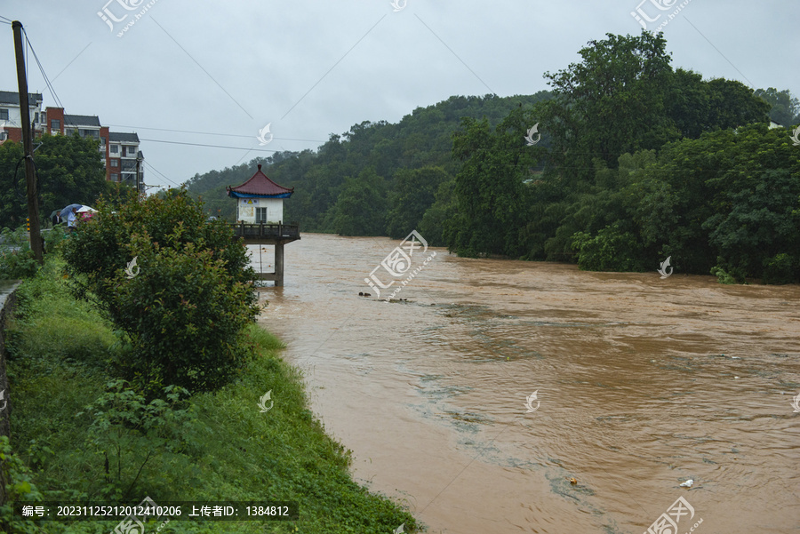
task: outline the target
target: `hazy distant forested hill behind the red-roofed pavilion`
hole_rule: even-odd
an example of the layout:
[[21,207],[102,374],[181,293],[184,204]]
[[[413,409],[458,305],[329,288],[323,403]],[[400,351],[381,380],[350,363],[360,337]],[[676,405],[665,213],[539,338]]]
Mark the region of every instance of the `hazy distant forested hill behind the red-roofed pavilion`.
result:
[[[439,182],[452,179],[460,168],[460,163],[452,159],[452,133],[458,130],[463,117],[485,117],[490,124],[499,124],[512,108],[531,108],[550,96],[547,91],[506,98],[453,96],[435,106],[416,108],[397,124],[355,124],[349,132],[332,134],[316,151],[277,152],[223,171],[196,174],[188,180],[188,190],[203,197],[210,214],[232,221],[236,218],[236,205],[226,195],[225,187],[243,183],[261,163],[270,179],[295,188],[291,200],[284,203],[284,219],[299,222],[303,231],[384,235],[387,229],[380,217],[380,222],[375,217],[358,221],[340,217],[337,221],[340,210],[336,203],[344,188],[364,189],[360,194],[364,200],[371,200],[369,210],[379,213],[388,208],[388,196],[395,189],[398,171],[424,169],[426,176],[435,179],[419,191],[420,196],[430,199],[423,201],[424,212],[433,203]],[[362,181],[363,185],[356,185]],[[408,231],[403,236],[407,234]]]

